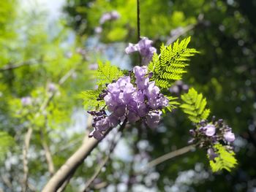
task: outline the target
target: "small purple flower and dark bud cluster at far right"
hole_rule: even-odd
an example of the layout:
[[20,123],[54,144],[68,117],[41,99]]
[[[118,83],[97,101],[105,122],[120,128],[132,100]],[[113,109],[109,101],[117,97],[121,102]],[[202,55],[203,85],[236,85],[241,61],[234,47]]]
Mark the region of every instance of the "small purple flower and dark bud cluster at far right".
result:
[[214,160],[217,154],[214,152],[214,145],[217,143],[225,143],[228,150],[232,150],[232,144],[235,141],[235,134],[232,132],[232,128],[223,123],[222,119],[212,119],[211,123],[207,120],[202,120],[198,123],[200,128],[190,129],[189,132],[193,139],[189,140],[189,143],[195,143],[199,147],[208,149],[208,157],[210,160]]

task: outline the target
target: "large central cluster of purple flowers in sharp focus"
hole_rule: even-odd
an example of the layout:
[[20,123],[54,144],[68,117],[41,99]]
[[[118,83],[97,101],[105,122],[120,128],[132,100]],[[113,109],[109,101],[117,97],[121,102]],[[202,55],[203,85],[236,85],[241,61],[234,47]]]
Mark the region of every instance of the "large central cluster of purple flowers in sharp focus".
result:
[[90,136],[102,139],[103,132],[127,118],[129,123],[142,119],[150,128],[158,125],[162,108],[167,107],[168,99],[160,93],[154,81],[150,82],[146,66],[135,66],[135,83],[130,76],[120,77],[116,82],[110,83],[107,90],[100,95],[108,108],[105,110],[89,112],[94,115],[94,131]]

